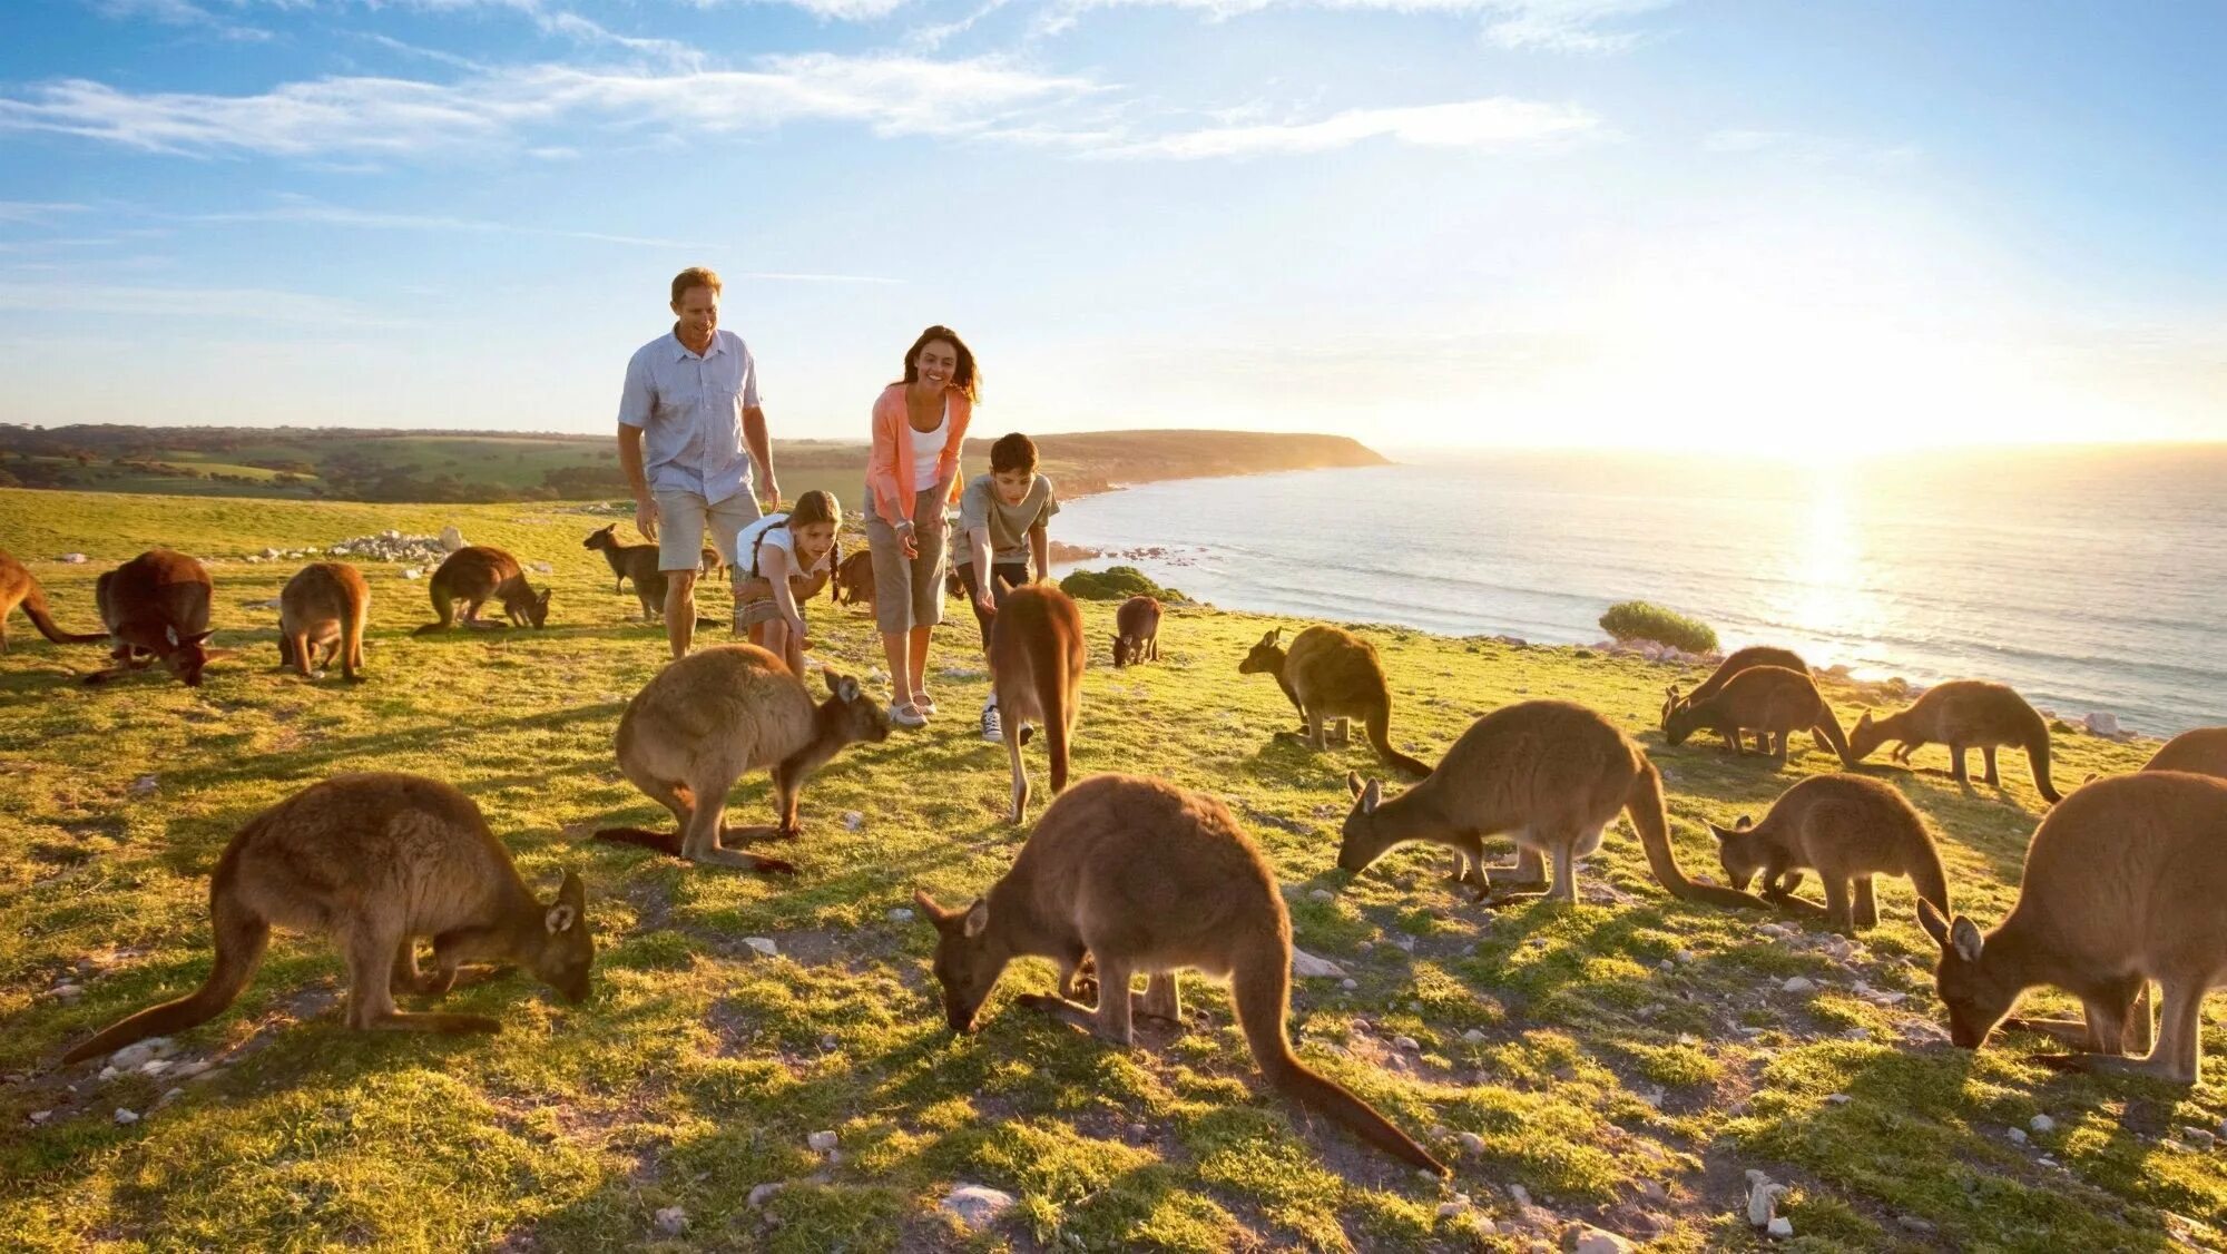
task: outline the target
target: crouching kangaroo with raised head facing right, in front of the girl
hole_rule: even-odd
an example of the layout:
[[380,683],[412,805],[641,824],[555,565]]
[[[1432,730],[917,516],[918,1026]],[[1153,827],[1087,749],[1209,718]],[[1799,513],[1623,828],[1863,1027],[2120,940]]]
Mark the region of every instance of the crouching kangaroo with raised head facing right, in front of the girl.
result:
[[[641,844],[690,862],[793,873],[779,858],[724,849],[726,793],[746,773],[771,766],[782,826],[795,837],[804,780],[853,742],[889,739],[889,715],[860,695],[857,679],[826,673],[828,699],[813,706],[804,682],[755,644],[719,644],[673,662],[635,693],[619,717],[619,768],[653,802],[673,811],[677,831],[606,826],[597,840]],[[764,831],[764,829],[759,829]]]

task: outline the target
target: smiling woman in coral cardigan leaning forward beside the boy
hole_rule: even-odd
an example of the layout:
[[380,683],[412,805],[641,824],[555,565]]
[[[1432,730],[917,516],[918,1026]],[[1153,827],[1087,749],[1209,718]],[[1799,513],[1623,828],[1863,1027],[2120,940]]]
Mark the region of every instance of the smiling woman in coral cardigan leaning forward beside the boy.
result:
[[873,403],[866,548],[897,726],[924,726],[935,713],[926,670],[929,633],[944,621],[944,512],[960,494],[960,443],[978,394],[973,352],[951,327],[929,327],[904,354],[904,379]]

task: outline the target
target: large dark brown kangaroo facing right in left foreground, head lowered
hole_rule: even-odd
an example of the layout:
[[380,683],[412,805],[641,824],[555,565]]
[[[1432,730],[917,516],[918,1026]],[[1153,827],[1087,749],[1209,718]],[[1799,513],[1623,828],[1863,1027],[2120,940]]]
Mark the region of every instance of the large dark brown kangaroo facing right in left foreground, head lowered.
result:
[[[421,775],[336,775],[278,802],[232,837],[209,878],[216,962],[198,993],[163,1002],[78,1045],[62,1062],[216,1018],[241,996],[272,924],[323,931],[347,960],[347,1025],[499,1031],[472,1013],[403,1013],[394,993],[441,996],[477,958],[517,962],[579,1002],[595,940],[588,891],[568,873],[537,902],[472,797]],[[434,973],[419,973],[416,938]]]

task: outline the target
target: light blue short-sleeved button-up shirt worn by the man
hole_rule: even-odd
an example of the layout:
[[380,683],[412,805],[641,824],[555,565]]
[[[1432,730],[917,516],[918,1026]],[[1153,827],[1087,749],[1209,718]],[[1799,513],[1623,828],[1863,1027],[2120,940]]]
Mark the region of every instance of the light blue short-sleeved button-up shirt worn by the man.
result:
[[713,332],[695,354],[675,334],[626,363],[619,421],[641,428],[641,470],[653,492],[695,492],[706,503],[750,490],[742,412],[757,408],[757,363],[735,332]]

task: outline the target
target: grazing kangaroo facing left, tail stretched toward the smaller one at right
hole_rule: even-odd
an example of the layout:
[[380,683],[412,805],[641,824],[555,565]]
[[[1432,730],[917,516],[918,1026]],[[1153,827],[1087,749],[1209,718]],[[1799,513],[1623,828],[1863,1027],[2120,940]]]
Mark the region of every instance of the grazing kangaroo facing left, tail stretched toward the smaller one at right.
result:
[[1601,831],[1617,811],[1630,815],[1648,853],[1655,882],[1672,898],[1719,907],[1770,902],[1697,884],[1670,851],[1670,815],[1661,775],[1628,735],[1601,715],[1572,702],[1519,702],[1470,724],[1445,751],[1428,780],[1399,797],[1383,797],[1376,780],[1347,775],[1356,800],[1345,815],[1338,866],[1367,871],[1390,849],[1410,840],[1439,844],[1468,858],[1463,873],[1483,900],[1490,891],[1483,837],[1508,833],[1517,842],[1517,882],[1537,895],[1541,862],[1554,860],[1554,882],[1546,895],[1577,900],[1577,860],[1601,846]]

